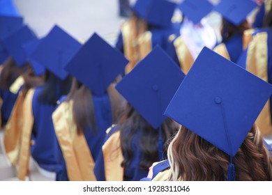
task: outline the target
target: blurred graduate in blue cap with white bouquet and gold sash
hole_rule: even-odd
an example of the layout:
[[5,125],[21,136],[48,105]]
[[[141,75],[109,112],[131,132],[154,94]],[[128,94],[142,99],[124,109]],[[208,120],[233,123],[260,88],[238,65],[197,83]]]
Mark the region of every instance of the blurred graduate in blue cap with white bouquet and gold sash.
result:
[[179,34],[171,36],[169,48],[174,48],[181,70],[187,74],[202,48],[206,46],[212,49],[217,44],[218,38],[216,31],[205,19],[213,9],[209,1],[186,0],[180,3],[178,8],[181,10],[183,20]]

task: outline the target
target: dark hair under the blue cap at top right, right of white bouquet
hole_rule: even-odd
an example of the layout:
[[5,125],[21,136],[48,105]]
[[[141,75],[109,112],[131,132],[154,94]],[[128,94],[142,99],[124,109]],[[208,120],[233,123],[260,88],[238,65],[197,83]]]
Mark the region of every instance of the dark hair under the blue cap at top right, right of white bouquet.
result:
[[237,33],[243,33],[243,31],[247,29],[250,29],[250,24],[248,23],[247,20],[243,21],[239,26],[236,26],[222,18],[221,24],[222,42],[229,40],[230,38],[232,38],[232,36],[234,36]]

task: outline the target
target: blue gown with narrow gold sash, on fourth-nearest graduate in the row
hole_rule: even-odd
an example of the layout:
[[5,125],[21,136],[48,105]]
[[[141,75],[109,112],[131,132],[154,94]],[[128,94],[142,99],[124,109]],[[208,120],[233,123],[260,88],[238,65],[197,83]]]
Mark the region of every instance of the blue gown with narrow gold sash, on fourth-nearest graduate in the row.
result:
[[30,155],[40,168],[50,172],[58,172],[61,165],[56,161],[56,134],[52,123],[55,106],[41,104],[38,96],[43,86],[31,89],[24,101],[24,123],[22,146],[20,150],[18,178],[25,180],[29,174]]

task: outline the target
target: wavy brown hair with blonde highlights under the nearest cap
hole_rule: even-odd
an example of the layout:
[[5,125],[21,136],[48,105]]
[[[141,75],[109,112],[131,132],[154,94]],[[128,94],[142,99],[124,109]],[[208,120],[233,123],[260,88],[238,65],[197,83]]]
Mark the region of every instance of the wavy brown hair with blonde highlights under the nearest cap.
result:
[[[227,180],[229,155],[186,127],[169,145],[169,180]],[[236,180],[272,180],[272,157],[255,125],[233,158]]]

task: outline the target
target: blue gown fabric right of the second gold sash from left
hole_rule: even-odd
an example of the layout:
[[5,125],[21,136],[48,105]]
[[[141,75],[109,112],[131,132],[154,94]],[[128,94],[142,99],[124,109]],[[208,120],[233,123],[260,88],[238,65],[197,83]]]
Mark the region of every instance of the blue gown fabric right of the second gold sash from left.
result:
[[55,106],[38,102],[38,96],[42,90],[43,86],[39,86],[33,94],[32,111],[34,122],[31,140],[34,141],[34,144],[31,146],[31,156],[42,169],[59,172],[61,164],[57,162],[55,156],[56,134],[52,122],[52,113]]

